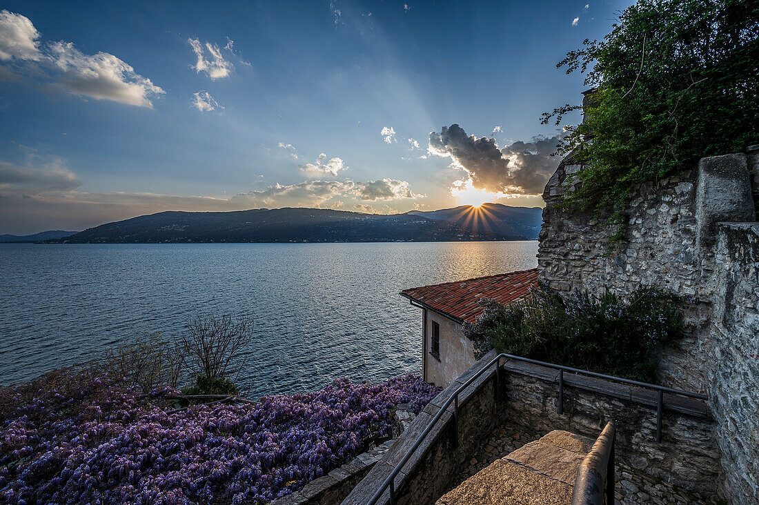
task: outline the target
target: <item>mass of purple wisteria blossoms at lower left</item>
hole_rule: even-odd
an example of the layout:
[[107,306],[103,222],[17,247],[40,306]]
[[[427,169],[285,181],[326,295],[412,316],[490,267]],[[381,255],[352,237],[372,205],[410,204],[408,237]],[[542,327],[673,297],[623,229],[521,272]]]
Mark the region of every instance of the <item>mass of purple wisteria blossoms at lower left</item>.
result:
[[162,393],[61,370],[0,390],[4,503],[266,503],[297,491],[391,434],[438,389],[411,374],[370,385],[169,414]]

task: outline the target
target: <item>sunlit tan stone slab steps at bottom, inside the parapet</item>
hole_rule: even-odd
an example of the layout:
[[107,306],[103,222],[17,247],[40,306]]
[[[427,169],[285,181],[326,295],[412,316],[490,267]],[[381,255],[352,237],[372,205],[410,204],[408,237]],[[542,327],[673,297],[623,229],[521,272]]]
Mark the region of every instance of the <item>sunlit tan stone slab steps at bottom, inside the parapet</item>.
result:
[[437,505],[569,505],[580,463],[595,440],[556,430],[496,459]]

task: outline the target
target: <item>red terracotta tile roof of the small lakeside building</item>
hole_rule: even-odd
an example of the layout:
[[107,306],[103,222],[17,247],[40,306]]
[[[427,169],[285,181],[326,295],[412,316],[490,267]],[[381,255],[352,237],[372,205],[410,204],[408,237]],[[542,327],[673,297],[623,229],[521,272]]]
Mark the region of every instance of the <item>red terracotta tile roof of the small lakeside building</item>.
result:
[[505,305],[523,298],[536,284],[537,268],[534,268],[404,289],[401,295],[452,319],[474,323],[474,319],[482,312],[482,308],[477,305],[480,298],[495,298]]

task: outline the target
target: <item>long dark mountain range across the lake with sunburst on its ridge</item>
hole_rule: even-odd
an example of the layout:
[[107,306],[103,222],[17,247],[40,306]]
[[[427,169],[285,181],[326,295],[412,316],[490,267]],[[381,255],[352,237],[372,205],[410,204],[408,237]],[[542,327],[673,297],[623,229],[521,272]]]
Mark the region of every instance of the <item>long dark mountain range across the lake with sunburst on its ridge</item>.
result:
[[483,204],[431,212],[365,214],[284,208],[235,212],[161,212],[86,229],[55,242],[375,242],[534,240],[540,208]]

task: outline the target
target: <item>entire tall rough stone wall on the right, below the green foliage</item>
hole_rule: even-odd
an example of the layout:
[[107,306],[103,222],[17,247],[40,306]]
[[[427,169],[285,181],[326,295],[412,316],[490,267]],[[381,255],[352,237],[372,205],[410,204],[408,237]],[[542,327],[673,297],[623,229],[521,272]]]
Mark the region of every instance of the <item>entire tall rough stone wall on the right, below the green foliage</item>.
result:
[[[608,214],[559,206],[583,169],[571,157],[546,185],[538,265],[540,281],[623,297],[639,286],[685,295],[688,335],[659,358],[662,383],[707,393],[732,503],[756,503],[759,404],[757,371],[756,202],[759,150],[701,159],[697,167],[639,185],[621,241]],[[757,200],[759,201],[759,200]],[[726,222],[743,224],[726,224]],[[753,356],[753,357],[752,357]]]

